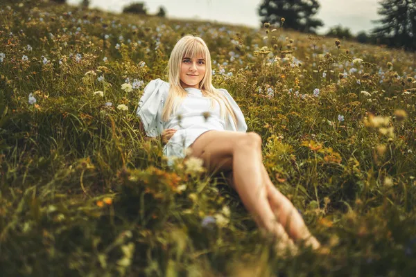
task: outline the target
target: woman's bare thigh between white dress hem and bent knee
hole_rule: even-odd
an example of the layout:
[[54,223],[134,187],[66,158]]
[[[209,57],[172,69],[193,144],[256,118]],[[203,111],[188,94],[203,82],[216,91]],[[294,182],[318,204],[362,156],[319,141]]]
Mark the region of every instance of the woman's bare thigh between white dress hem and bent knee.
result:
[[189,148],[191,157],[204,161],[209,173],[232,170],[232,157],[236,145],[247,138],[247,133],[233,131],[207,131],[196,139]]

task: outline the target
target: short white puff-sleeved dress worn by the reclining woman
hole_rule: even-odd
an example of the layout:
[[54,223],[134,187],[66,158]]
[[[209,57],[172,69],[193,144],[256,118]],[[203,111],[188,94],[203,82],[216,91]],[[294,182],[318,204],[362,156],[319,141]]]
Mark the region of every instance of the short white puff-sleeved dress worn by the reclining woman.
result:
[[[209,130],[229,130],[246,132],[247,124],[239,105],[234,101],[228,91],[219,89],[229,100],[236,114],[237,126],[234,125],[231,115],[226,120],[220,118],[220,105],[214,101],[215,106],[210,110],[211,100],[202,96],[200,89],[187,88],[188,96],[184,98],[175,114],[171,115],[167,122],[162,121],[164,102],[168,97],[169,83],[156,79],[148,83],[144,88],[143,96],[139,100],[137,116],[140,117],[147,136],[159,136],[164,129],[177,129],[171,139],[163,148],[163,153],[168,157],[168,165],[173,164],[172,157],[185,157],[185,150],[198,136]],[[208,111],[207,118],[204,112]],[[181,115],[179,120],[178,115]]]

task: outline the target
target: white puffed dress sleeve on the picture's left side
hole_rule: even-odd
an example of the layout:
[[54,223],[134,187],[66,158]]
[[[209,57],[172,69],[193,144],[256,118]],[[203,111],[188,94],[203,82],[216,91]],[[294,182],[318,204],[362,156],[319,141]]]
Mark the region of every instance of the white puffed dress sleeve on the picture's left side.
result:
[[162,110],[168,89],[168,83],[159,78],[151,80],[144,88],[137,107],[137,116],[141,119],[147,136],[155,137],[163,132]]

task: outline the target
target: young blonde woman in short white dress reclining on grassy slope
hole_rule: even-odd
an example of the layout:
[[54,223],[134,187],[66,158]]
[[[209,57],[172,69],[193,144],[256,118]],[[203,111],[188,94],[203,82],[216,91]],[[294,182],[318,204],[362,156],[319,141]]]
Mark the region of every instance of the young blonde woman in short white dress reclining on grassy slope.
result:
[[[211,84],[211,55],[200,37],[182,37],[168,61],[169,82],[149,82],[137,115],[147,136],[162,136],[166,157],[198,157],[211,174],[224,172],[247,210],[279,249],[293,241],[313,249],[311,235],[293,204],[272,184],[261,157],[261,136],[246,132],[241,109],[225,89]],[[173,160],[168,159],[172,164]]]

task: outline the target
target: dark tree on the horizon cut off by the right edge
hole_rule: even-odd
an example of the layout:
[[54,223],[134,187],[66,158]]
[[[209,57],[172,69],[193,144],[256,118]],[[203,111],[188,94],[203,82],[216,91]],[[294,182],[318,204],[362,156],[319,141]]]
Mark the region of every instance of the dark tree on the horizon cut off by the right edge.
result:
[[378,13],[381,19],[372,30],[379,42],[388,46],[416,50],[416,3],[415,0],[381,0]]

